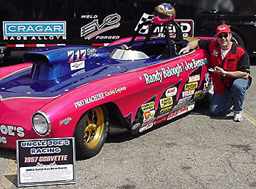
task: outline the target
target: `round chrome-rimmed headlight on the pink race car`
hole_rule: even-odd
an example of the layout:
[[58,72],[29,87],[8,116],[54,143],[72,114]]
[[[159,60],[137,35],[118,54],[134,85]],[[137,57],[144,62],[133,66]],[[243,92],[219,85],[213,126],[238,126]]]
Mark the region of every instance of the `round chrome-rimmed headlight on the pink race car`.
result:
[[37,111],[32,117],[32,126],[36,134],[46,136],[50,133],[50,119],[44,112]]

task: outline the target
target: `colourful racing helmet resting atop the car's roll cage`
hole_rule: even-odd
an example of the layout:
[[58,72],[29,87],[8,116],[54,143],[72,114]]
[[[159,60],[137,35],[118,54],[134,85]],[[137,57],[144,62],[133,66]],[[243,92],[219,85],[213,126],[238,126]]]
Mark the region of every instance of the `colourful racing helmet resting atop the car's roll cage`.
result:
[[168,25],[176,16],[176,11],[171,4],[159,4],[154,10],[153,22],[156,25],[165,24]]

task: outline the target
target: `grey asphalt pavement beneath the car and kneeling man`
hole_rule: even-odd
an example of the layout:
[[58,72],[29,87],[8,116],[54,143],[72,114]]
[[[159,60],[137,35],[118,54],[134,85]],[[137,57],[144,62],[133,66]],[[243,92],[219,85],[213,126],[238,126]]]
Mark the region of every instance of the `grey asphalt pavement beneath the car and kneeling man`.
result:
[[[255,86],[247,91],[241,123],[232,114],[209,117],[198,105],[143,134],[110,136],[97,156],[76,161],[75,184],[36,188],[256,188]],[[0,189],[16,188],[15,153],[0,148]]]

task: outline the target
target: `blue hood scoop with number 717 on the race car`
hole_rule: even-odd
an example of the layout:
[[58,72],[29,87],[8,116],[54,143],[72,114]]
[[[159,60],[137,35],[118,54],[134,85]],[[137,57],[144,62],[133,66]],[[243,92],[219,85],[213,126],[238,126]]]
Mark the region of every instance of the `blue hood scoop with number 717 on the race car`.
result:
[[31,77],[36,80],[55,80],[95,65],[108,52],[90,46],[68,45],[37,48],[23,55],[25,63],[33,63]]

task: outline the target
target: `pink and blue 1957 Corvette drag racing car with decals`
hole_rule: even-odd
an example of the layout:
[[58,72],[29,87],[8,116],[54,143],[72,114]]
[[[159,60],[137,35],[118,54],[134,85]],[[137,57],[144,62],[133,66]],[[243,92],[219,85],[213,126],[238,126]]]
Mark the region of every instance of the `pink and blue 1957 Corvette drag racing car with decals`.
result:
[[[137,134],[191,111],[210,89],[208,54],[179,55],[191,39],[175,21],[171,36],[169,23],[154,19],[102,48],[37,48],[23,55],[23,64],[0,68],[0,146],[75,136],[77,155],[90,158],[109,133]],[[159,25],[165,37],[151,35]],[[149,33],[138,36],[143,26]]]

